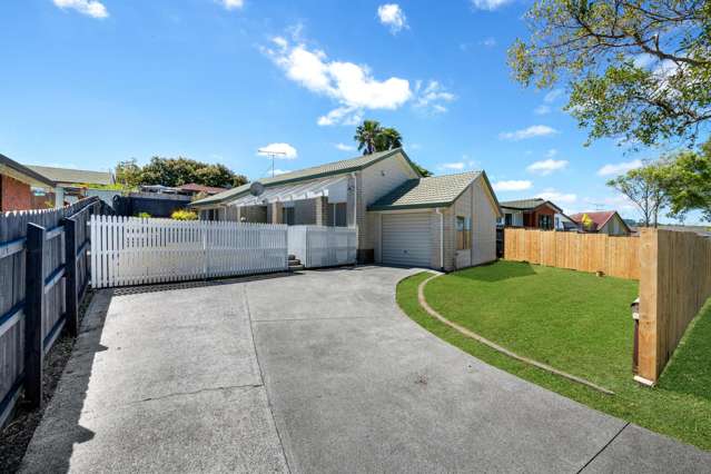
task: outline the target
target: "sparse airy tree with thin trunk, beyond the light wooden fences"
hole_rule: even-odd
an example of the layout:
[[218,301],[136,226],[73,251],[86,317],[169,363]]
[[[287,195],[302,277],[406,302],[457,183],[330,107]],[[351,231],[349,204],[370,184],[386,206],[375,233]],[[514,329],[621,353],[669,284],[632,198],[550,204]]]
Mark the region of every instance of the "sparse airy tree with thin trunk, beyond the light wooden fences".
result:
[[608,186],[626,196],[642,214],[645,227],[656,227],[659,213],[669,203],[665,189],[668,169],[660,162],[646,164],[608,181]]

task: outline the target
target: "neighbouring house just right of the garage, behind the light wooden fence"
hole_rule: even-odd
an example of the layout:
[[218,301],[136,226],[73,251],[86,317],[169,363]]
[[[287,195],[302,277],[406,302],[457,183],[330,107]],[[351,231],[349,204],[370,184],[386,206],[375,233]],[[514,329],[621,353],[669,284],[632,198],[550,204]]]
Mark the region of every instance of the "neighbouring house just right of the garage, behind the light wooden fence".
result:
[[505,227],[566,230],[565,223],[570,223],[560,207],[541,198],[502,201],[501,210],[504,216],[498,225]]

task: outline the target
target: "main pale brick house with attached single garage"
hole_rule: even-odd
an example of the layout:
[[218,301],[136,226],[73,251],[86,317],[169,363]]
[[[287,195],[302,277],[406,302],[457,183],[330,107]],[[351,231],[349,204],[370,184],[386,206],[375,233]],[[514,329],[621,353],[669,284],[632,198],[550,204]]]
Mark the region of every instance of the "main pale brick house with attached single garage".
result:
[[356,226],[361,263],[453,270],[496,258],[501,210],[484,171],[423,178],[405,151],[395,149],[265,178],[260,185],[229,189],[191,207],[210,220]]

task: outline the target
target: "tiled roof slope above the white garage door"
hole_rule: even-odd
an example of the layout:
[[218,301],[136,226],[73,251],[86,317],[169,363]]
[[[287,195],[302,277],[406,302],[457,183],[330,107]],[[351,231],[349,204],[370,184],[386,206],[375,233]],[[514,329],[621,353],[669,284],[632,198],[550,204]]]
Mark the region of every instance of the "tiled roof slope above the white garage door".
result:
[[368,206],[368,210],[448,206],[482,171],[409,179]]

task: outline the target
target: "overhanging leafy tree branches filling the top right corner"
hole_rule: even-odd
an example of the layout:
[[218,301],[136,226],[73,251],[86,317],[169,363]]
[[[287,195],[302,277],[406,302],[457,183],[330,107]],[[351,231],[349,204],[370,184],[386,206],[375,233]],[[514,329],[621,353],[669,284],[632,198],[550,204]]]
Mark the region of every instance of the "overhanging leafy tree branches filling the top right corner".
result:
[[514,77],[564,82],[590,140],[694,142],[711,119],[711,2],[537,0],[531,36],[508,50]]

